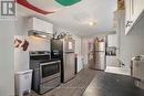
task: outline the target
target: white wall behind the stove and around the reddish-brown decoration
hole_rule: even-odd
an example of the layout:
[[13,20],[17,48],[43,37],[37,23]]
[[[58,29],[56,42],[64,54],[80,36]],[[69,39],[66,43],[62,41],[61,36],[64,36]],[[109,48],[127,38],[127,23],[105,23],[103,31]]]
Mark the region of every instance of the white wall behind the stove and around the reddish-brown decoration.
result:
[[23,52],[20,49],[14,49],[14,71],[29,70],[29,51],[50,51],[50,41],[40,38],[28,36],[29,18],[19,15],[16,21],[14,35],[29,41],[28,51]]

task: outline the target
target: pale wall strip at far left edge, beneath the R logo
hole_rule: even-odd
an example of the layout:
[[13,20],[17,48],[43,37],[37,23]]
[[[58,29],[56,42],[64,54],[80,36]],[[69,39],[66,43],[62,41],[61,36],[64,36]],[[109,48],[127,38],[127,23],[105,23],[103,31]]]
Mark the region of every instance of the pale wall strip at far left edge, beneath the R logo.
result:
[[14,96],[14,21],[0,20],[0,96]]

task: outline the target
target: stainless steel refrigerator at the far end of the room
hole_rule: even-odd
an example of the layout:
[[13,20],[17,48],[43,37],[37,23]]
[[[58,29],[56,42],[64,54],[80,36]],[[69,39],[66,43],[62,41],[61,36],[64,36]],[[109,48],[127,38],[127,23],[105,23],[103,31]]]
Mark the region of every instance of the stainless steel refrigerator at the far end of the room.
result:
[[104,71],[106,68],[105,38],[96,38],[91,41],[91,47],[89,52],[89,67]]

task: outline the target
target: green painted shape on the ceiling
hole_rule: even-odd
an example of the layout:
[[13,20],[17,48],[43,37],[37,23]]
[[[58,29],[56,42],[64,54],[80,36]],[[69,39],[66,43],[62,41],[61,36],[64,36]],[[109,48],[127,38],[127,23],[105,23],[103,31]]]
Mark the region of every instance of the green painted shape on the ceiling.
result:
[[55,1],[62,6],[72,6],[76,2],[80,2],[81,0],[55,0]]

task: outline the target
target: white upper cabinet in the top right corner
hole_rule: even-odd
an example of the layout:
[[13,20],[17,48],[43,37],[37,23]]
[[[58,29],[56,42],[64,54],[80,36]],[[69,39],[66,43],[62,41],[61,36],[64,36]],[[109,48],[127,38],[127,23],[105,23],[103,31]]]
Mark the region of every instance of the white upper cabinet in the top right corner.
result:
[[144,13],[144,0],[125,0],[125,34],[141,20]]

